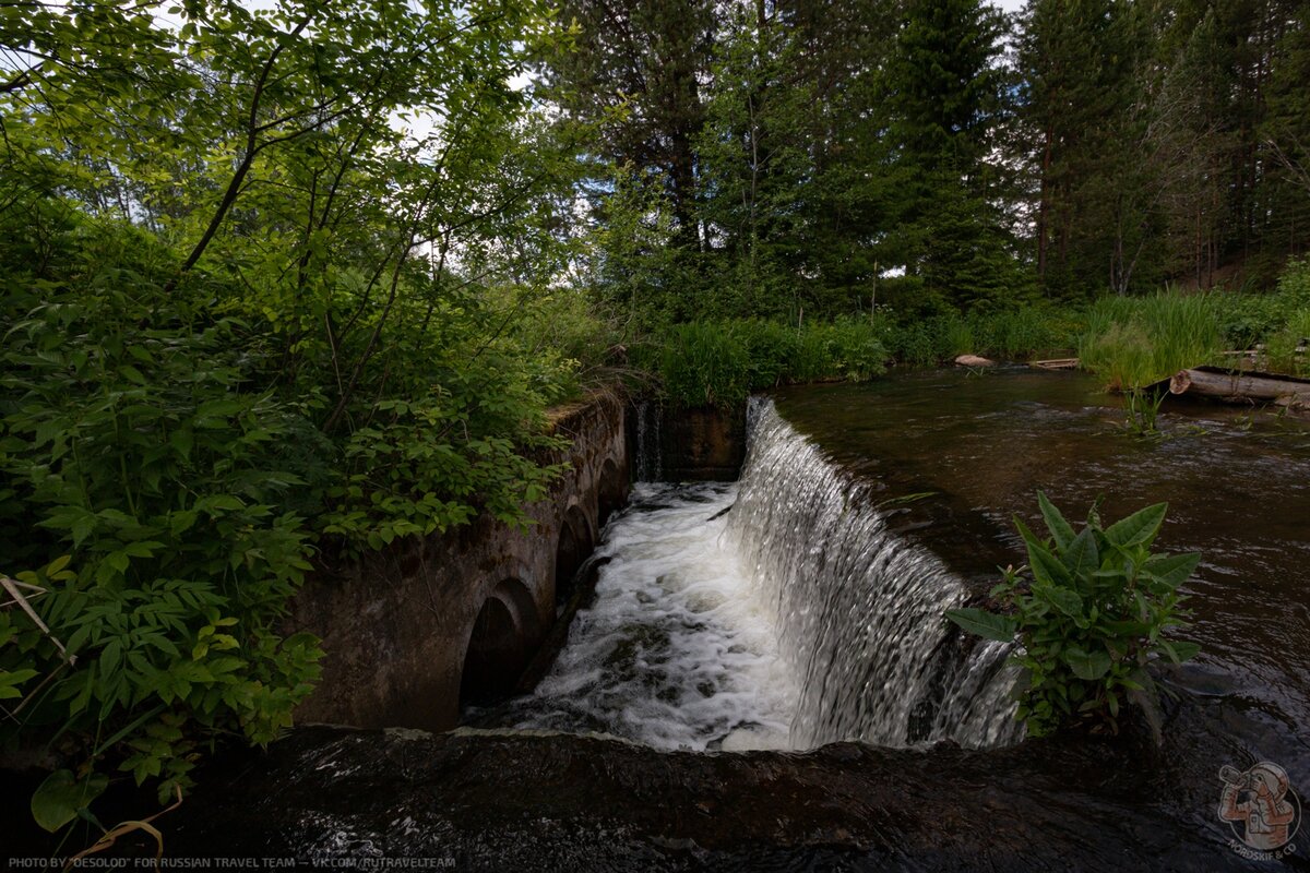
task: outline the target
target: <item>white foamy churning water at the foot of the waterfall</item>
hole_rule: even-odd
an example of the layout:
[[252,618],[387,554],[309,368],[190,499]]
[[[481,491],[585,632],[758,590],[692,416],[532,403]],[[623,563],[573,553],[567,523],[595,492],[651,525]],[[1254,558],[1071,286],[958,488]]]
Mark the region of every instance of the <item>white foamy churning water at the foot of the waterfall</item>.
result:
[[798,690],[768,607],[723,537],[735,484],[634,487],[607,529],[596,599],[523,729],[593,730],[658,749],[789,747]]

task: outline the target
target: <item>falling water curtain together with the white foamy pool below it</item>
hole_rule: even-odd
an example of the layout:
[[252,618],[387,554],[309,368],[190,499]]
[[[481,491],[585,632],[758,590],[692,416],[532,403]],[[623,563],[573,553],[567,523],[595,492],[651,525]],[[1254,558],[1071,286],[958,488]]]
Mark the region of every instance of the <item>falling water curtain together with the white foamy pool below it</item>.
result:
[[[647,476],[652,415],[638,407]],[[770,401],[752,401],[748,425],[740,483],[634,488],[600,546],[595,603],[495,720],[660,749],[1017,741],[1009,647],[969,648],[942,616],[963,584]]]

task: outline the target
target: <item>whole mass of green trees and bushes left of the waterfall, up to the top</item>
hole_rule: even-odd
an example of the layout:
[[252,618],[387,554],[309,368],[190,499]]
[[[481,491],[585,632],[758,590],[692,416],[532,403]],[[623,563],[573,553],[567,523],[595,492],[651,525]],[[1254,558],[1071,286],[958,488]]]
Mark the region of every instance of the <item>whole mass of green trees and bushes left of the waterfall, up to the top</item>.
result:
[[576,140],[504,85],[529,7],[5,9],[0,745],[62,760],[41,825],[286,726],[316,555],[528,524],[593,327],[548,291]]

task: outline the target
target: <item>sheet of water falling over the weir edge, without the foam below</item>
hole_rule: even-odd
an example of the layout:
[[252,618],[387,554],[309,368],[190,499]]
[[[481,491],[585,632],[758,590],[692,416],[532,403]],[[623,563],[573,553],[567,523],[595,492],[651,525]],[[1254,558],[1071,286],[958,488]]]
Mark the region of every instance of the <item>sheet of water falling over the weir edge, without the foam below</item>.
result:
[[1009,647],[973,644],[942,616],[964,605],[962,581],[891,533],[871,487],[828,461],[772,401],[752,399],[748,429],[726,535],[796,675],[791,745],[1015,742]]

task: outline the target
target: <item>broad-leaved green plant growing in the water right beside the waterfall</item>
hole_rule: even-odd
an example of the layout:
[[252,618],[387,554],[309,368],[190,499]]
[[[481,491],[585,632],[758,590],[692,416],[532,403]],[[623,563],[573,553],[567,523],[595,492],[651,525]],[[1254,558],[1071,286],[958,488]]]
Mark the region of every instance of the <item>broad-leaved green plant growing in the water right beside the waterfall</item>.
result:
[[1170,640],[1165,632],[1184,627],[1179,586],[1196,569],[1199,554],[1150,551],[1165,521],[1166,504],[1155,504],[1102,527],[1096,510],[1074,533],[1058,509],[1039,493],[1051,533],[1038,538],[1014,520],[1028,550],[1027,572],[1006,569],[992,590],[1003,613],[951,610],[948,619],[971,633],[1010,643],[1018,637],[1013,662],[1023,670],[1017,717],[1028,734],[1085,725],[1116,732],[1128,702],[1153,711],[1153,658],[1180,664],[1200,649]]

